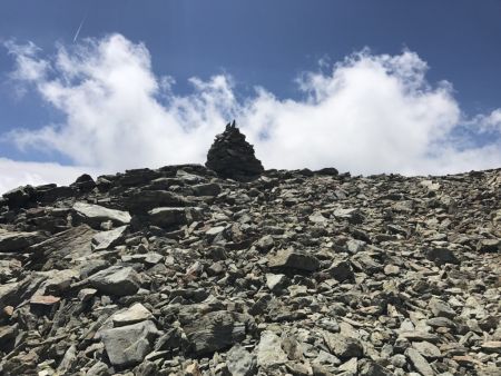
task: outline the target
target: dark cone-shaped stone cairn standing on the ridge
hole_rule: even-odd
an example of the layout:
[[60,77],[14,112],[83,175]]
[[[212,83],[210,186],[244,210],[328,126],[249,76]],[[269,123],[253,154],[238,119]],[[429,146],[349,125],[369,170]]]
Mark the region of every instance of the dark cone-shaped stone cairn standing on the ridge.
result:
[[244,181],[256,179],[264,171],[253,146],[245,140],[235,121],[226,125],[225,131],[216,136],[205,166],[223,178]]

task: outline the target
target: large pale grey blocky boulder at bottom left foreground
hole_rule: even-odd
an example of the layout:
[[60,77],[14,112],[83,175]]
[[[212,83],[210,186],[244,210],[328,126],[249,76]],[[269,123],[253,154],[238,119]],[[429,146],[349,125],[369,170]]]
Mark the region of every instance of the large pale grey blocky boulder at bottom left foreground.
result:
[[104,330],[101,339],[110,363],[126,367],[143,362],[158,334],[155,324],[147,320]]

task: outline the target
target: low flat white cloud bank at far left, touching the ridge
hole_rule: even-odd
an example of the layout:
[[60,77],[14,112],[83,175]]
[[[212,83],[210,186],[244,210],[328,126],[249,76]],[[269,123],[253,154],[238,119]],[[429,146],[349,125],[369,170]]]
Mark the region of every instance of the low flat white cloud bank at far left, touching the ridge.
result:
[[26,185],[39,186],[56,182],[67,186],[82,174],[90,174],[96,177],[97,171],[85,167],[0,158],[0,194]]

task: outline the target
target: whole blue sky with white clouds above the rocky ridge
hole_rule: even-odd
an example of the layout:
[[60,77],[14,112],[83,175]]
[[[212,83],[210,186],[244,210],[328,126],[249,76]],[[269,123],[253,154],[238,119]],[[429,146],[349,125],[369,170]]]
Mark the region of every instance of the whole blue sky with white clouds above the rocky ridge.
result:
[[501,165],[501,2],[0,0],[0,191],[204,162]]

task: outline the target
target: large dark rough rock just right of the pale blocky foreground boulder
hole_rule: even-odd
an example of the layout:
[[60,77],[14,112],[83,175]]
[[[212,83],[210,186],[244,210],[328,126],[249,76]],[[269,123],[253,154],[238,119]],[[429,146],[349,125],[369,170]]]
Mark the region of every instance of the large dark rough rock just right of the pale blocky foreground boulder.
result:
[[244,318],[227,310],[208,313],[183,327],[194,354],[205,355],[225,349],[245,338]]

